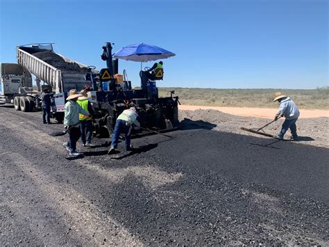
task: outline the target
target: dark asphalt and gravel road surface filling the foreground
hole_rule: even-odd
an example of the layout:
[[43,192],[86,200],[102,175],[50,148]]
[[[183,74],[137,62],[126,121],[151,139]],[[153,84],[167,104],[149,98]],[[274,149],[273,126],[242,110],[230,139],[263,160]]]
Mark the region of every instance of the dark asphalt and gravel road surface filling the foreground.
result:
[[94,139],[69,159],[41,113],[0,106],[0,119],[1,245],[329,244],[326,148],[185,120],[176,139],[112,159]]

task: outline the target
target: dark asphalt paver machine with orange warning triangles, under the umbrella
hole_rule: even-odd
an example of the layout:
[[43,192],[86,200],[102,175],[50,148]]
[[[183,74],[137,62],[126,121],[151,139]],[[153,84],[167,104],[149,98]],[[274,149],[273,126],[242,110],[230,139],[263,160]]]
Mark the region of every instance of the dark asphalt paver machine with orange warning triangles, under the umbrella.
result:
[[[112,45],[107,42],[101,56],[107,67],[92,77],[94,129],[97,136],[111,135],[119,114],[133,104],[140,115],[141,129],[133,136],[168,132],[178,128],[178,96],[159,97],[158,88],[149,79],[141,78],[141,87],[132,88],[130,81],[116,77],[118,60],[112,58]],[[140,73],[142,74],[142,73]],[[106,133],[107,132],[107,133]]]

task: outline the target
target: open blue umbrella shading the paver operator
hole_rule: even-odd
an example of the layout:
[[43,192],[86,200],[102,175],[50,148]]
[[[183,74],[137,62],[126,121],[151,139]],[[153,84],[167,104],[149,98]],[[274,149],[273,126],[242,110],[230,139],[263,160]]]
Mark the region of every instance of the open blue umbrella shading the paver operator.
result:
[[176,54],[167,51],[155,45],[146,45],[144,43],[128,45],[117,51],[113,57],[121,58],[126,61],[149,62],[158,59],[169,58]]

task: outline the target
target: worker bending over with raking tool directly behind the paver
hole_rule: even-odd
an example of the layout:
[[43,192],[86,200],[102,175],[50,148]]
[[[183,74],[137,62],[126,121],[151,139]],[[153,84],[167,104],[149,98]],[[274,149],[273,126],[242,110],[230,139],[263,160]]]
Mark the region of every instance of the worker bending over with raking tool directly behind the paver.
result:
[[133,125],[140,127],[140,122],[138,122],[137,119],[139,119],[139,116],[134,106],[130,107],[130,109],[124,110],[119,115],[117,121],[115,122],[115,129],[113,131],[112,143],[110,150],[108,150],[108,154],[115,153],[115,150],[117,149],[119,142],[119,136],[121,133],[124,133],[126,136],[126,150],[127,151],[131,150],[131,146],[130,146],[131,129],[133,128]]

